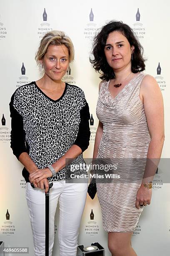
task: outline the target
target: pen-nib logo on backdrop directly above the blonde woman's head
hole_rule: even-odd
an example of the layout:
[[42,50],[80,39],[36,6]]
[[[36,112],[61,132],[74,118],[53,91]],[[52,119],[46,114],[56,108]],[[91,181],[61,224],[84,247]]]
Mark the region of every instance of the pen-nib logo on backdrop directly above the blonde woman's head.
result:
[[52,31],[51,25],[48,22],[48,15],[45,8],[41,17],[42,23],[40,23],[40,26],[37,29],[37,34],[39,38],[42,38],[47,32]]

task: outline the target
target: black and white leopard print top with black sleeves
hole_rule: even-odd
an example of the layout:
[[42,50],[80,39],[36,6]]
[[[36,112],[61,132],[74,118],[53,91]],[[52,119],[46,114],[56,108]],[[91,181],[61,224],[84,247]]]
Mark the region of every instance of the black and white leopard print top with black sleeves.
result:
[[[10,102],[11,148],[19,158],[28,152],[39,169],[60,159],[76,144],[84,151],[89,145],[90,113],[84,92],[77,86],[65,84],[58,100],[45,95],[35,82],[19,87]],[[82,154],[77,159],[82,161]],[[23,176],[29,182],[24,168]],[[48,180],[65,179],[65,168]]]

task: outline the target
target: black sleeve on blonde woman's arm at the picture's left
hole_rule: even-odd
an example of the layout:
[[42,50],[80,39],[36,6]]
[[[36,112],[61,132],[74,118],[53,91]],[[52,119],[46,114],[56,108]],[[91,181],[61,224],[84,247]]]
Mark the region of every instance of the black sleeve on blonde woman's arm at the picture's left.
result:
[[13,106],[14,94],[10,102],[10,117],[11,117],[11,142],[10,147],[13,149],[13,154],[19,158],[20,154],[27,152],[25,145],[25,131],[23,129],[23,117]]

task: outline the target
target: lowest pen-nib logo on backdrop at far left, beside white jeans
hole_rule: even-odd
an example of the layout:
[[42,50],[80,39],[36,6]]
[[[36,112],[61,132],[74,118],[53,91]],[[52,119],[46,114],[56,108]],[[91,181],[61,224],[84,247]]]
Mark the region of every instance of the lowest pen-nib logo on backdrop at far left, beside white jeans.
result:
[[6,215],[4,215],[4,219],[6,217],[6,220],[0,227],[0,231],[2,235],[10,236],[15,234],[15,225],[13,225],[13,222],[10,220],[10,213],[7,209]]

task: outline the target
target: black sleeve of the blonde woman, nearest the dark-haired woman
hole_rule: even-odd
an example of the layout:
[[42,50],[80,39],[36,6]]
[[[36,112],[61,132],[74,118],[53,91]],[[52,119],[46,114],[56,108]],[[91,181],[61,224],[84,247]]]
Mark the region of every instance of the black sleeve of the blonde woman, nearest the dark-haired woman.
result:
[[77,138],[75,139],[74,144],[79,146],[83,151],[85,151],[89,146],[90,140],[90,128],[89,128],[89,106],[86,102],[85,106],[80,110],[80,124],[79,130],[77,133]]

